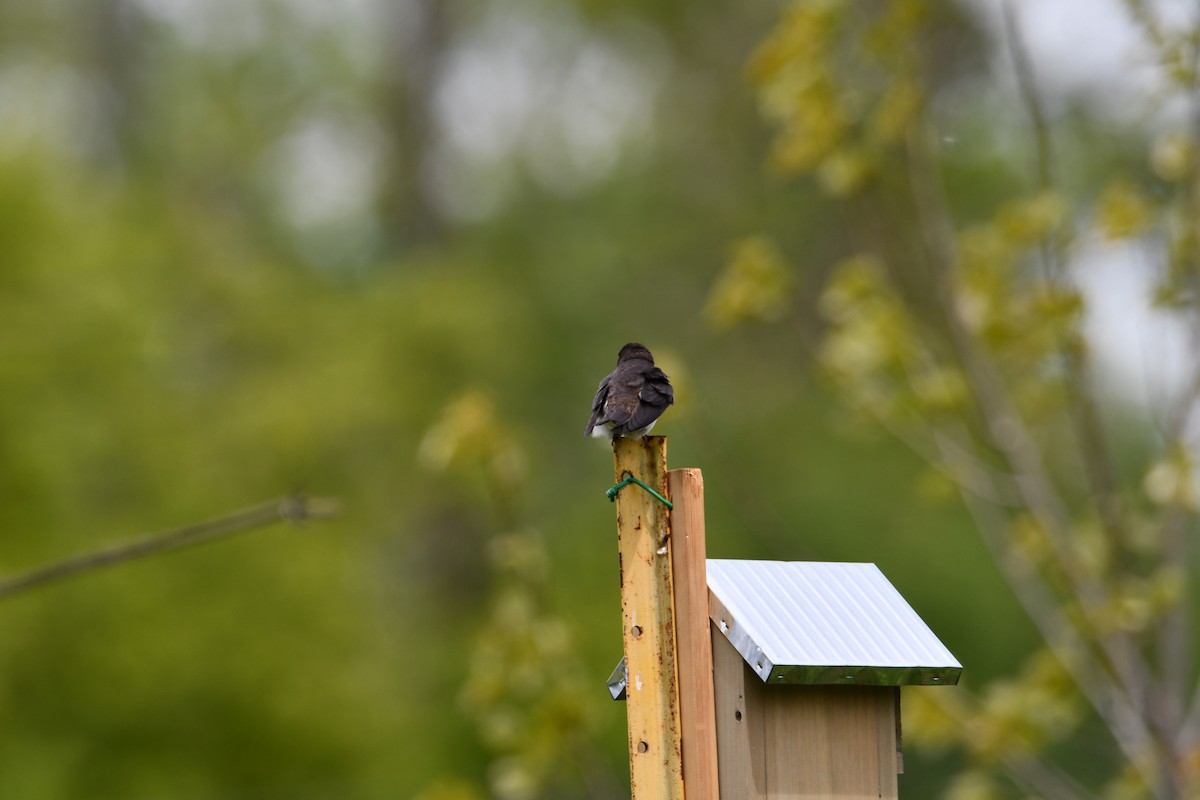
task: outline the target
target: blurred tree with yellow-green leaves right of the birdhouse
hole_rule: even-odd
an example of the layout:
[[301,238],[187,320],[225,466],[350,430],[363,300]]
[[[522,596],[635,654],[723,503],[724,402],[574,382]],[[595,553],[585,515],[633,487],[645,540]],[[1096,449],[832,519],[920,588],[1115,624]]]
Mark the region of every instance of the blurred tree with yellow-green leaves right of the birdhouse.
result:
[[[1154,91],[1108,158],[1078,152],[1091,119],[1048,107],[1012,0],[995,10],[1018,106],[962,108],[959,23],[925,0],[793,4],[750,61],[770,166],[844,209],[816,361],[970,511],[1043,639],[979,691],[913,693],[907,741],[965,750],[950,798],[1200,795],[1200,19],[1123,5]],[[980,191],[979,148],[1006,145],[1012,182]],[[1187,354],[1140,404],[1098,378],[1087,330],[1111,242],[1148,288],[1118,314],[1152,301]],[[786,259],[763,236],[739,247],[714,319],[778,315]],[[1157,368],[1170,345],[1151,343]],[[1104,770],[1074,763],[1103,748]]]

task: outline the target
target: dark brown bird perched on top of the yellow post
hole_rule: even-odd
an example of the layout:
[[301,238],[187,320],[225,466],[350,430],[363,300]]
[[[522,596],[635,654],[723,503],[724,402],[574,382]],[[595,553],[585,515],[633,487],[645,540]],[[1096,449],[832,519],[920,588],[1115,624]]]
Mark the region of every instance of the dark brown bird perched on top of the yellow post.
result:
[[630,342],[620,348],[617,368],[600,381],[583,435],[644,437],[672,403],[674,390],[666,374],[654,366],[654,356],[644,345]]

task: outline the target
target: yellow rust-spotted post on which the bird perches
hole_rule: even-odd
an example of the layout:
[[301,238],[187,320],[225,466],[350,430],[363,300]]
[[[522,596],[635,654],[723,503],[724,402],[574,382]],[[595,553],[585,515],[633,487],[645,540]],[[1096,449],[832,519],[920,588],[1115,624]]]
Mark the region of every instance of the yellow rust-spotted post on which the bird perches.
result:
[[[665,437],[614,439],[613,461],[617,482],[667,494]],[[632,800],[683,800],[667,507],[634,483],[616,503]]]

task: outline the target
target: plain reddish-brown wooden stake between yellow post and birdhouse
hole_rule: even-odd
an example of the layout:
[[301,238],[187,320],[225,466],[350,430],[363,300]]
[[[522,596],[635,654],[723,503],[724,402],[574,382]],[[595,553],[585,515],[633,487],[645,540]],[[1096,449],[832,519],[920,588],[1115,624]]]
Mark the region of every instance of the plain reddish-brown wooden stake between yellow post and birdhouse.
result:
[[719,800],[713,643],[704,570],[704,477],[698,469],[672,469],[667,473],[667,487],[674,504],[670,551],[683,723],[683,783],[688,800]]

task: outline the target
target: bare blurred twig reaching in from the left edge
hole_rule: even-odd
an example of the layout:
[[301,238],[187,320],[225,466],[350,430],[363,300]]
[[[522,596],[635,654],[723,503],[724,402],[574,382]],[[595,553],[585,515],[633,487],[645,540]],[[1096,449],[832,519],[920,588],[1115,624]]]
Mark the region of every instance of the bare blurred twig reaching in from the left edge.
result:
[[106,566],[191,547],[281,521],[325,519],[335,516],[337,511],[338,504],[331,499],[288,497],[271,500],[227,517],[152,534],[134,542],[84,553],[24,575],[0,579],[0,600]]

